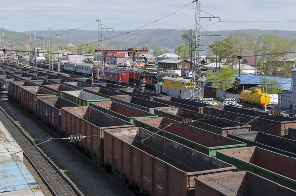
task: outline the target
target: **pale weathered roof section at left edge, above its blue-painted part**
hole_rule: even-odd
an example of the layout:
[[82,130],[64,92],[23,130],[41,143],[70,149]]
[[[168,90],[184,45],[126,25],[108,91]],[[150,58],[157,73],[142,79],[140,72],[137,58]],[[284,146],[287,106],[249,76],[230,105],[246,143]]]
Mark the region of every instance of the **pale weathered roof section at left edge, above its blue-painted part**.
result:
[[[1,120],[1,119],[0,119]],[[8,157],[16,153],[21,161],[23,161],[23,152],[13,137],[10,135],[4,124],[0,121],[0,157]],[[21,152],[19,152],[21,151]]]

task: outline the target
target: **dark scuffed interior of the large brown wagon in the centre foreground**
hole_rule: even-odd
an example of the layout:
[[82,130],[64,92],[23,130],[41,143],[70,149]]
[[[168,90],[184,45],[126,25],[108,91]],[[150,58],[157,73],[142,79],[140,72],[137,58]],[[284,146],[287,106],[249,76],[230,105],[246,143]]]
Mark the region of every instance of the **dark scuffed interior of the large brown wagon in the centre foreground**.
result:
[[[185,172],[205,171],[231,166],[160,135],[152,135],[152,132],[143,128],[113,129],[107,132]],[[142,143],[142,139],[146,140]]]

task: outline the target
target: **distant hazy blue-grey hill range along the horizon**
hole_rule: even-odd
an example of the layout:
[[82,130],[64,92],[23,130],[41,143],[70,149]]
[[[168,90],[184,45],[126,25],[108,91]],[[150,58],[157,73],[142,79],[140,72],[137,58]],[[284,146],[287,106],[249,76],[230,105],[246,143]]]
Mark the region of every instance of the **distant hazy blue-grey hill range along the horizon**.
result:
[[[65,33],[69,31],[68,33]],[[143,30],[136,30],[129,34],[124,34],[128,31],[104,31],[103,36],[107,41],[108,45],[115,45],[115,46],[134,46],[134,47],[141,47],[143,43],[148,43],[152,46],[152,48],[158,47],[167,47],[170,50],[174,50],[180,44],[183,44],[183,40],[181,36],[187,30],[176,30],[176,29],[143,29]],[[279,37],[284,39],[296,39],[296,32],[295,31],[281,31],[281,30],[257,30],[257,29],[248,29],[245,30],[248,32],[258,32],[262,34],[277,34]],[[49,31],[28,31],[28,32],[14,32],[9,30],[4,30],[5,34],[5,46],[8,48],[10,46],[13,48],[13,43],[16,43],[16,49],[23,49],[24,43],[29,41],[29,34],[37,32],[36,38],[37,40],[44,39],[41,41],[37,41],[38,47],[43,47],[43,43],[45,45],[48,44],[49,39]],[[40,32],[40,33],[38,33]],[[219,38],[226,38],[227,34],[233,33],[233,31],[215,31],[212,32],[216,35],[221,35],[220,37],[202,37],[202,44],[208,45],[216,39]],[[69,43],[71,45],[79,45],[82,43],[90,43],[95,42],[98,40],[98,32],[97,31],[85,31],[85,30],[59,30],[53,31],[53,41],[55,45],[58,45],[59,48],[66,47]],[[63,35],[59,35],[65,33]],[[208,32],[202,32],[202,35],[210,35]],[[33,43],[33,37],[32,37]]]

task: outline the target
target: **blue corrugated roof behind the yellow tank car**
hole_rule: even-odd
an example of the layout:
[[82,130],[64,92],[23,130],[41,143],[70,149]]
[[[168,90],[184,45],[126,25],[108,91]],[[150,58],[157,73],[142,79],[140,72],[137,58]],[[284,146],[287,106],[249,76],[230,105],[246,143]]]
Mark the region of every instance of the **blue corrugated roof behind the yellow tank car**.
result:
[[[296,71],[292,70],[292,71]],[[235,76],[235,78],[238,78],[238,75]],[[240,84],[254,84],[259,85],[262,84],[262,80],[265,79],[265,76],[261,75],[241,75],[239,77],[241,79]],[[293,90],[293,78],[284,78],[284,77],[274,77],[274,76],[268,76],[268,80],[274,79],[277,81],[277,84],[279,84],[283,90],[286,91],[292,91]]]

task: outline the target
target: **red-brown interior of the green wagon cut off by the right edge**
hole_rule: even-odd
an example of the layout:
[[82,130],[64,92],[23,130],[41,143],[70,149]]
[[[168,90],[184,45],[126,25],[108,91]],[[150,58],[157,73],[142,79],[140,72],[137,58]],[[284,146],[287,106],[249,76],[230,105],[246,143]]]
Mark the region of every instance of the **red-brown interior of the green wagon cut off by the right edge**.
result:
[[219,152],[296,180],[296,158],[259,147],[221,150]]

